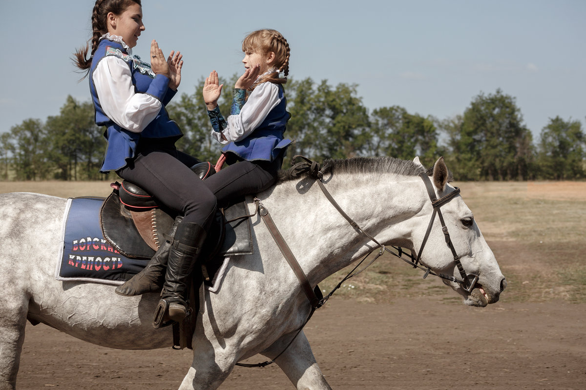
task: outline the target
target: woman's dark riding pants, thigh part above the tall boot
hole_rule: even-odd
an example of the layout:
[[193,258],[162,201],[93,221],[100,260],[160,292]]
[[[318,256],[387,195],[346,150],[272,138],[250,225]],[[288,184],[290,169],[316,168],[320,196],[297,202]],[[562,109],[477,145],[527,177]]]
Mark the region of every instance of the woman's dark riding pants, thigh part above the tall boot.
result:
[[134,160],[116,173],[183,215],[183,222],[207,230],[216,212],[216,196],[190,169],[199,162],[174,144],[141,140]]

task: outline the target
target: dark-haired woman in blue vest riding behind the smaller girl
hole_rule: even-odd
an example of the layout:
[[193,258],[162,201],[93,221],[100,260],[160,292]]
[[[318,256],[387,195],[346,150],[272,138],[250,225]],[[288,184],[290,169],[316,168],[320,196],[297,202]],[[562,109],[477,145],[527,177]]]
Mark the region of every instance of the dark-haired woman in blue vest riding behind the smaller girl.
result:
[[90,57],[86,46],[76,51],[75,61],[89,75],[96,124],[107,127],[100,172],[115,171],[179,215],[172,243],[163,243],[145,270],[116,288],[131,296],[162,287],[156,328],[189,313],[186,288],[216,212],[216,197],[190,170],[200,161],[176,149],[183,134],[165,109],[181,81],[182,55],[171,51],[165,59],[153,40],[150,64],[131,56],[145,30],[140,0],[97,0],[91,20]]

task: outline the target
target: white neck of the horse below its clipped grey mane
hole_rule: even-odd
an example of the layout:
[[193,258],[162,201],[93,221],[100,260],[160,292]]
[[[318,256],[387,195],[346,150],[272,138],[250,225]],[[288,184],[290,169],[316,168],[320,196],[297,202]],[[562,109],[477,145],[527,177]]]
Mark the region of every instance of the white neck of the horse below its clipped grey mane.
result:
[[[325,187],[340,208],[377,241],[408,247],[408,220],[423,207],[420,178],[339,174],[326,180]],[[284,182],[259,198],[313,284],[376,247],[350,226],[312,179]]]

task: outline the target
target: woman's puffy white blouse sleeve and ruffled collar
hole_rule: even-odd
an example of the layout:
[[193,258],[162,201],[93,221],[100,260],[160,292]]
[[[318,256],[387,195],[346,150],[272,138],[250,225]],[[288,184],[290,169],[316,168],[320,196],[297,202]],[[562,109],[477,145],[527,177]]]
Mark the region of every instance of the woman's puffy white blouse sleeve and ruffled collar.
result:
[[[121,37],[103,37],[126,46]],[[120,57],[105,56],[92,78],[105,115],[123,129],[140,133],[161,111],[162,103],[154,96],[135,93],[130,67]]]

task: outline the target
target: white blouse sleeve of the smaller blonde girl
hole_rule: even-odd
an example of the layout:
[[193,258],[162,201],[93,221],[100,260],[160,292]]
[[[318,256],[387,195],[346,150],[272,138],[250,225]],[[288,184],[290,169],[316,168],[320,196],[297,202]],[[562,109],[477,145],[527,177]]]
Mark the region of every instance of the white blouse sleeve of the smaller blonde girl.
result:
[[[212,130],[212,137],[221,144],[246,138],[258,125],[263,123],[268,113],[280,102],[278,85],[268,81],[263,82],[254,88],[239,114],[226,118],[226,129],[220,133]],[[222,134],[226,140],[222,139]]]

